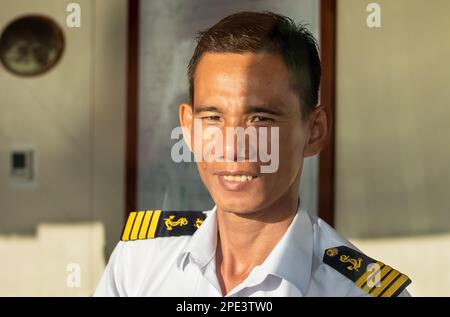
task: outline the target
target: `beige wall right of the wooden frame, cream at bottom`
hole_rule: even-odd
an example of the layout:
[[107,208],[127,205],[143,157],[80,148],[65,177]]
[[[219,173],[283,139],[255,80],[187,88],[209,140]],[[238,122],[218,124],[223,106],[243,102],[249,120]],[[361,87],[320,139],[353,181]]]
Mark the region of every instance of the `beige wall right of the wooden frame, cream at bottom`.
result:
[[338,1],[336,227],[449,296],[450,2],[376,1],[368,28],[371,2]]

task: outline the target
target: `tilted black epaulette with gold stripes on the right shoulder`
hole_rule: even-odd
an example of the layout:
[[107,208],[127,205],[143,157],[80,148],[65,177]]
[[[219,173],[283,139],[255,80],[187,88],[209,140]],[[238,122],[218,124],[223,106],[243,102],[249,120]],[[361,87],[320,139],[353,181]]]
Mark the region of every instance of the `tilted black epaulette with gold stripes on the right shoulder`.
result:
[[325,250],[323,262],[373,297],[396,297],[411,283],[405,274],[346,246]]

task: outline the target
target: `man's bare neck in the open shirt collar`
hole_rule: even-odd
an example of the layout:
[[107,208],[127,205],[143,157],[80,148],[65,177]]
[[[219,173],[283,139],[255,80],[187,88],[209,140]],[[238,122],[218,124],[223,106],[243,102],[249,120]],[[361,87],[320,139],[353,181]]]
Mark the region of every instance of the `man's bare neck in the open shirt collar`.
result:
[[242,215],[217,208],[216,267],[224,294],[269,256],[292,223],[298,203],[298,182],[294,182],[292,190],[254,213]]

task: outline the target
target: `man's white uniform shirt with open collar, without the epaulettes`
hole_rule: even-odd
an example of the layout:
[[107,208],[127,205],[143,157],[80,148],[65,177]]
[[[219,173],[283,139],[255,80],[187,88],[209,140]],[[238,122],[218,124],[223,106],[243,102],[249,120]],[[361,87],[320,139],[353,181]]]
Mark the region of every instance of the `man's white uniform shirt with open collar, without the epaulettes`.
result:
[[[207,214],[192,236],[120,241],[95,296],[223,296],[215,267],[216,207]],[[323,262],[325,250],[337,246],[357,250],[299,210],[266,260],[226,296],[370,296]]]

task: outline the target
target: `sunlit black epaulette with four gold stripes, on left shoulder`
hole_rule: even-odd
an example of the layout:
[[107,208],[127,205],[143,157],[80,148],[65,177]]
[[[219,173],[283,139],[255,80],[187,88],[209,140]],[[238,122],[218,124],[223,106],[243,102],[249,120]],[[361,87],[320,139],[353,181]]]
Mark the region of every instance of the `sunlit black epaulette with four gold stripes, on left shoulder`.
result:
[[134,211],[128,215],[122,241],[192,235],[206,218],[201,211]]

